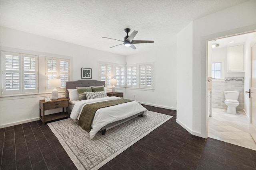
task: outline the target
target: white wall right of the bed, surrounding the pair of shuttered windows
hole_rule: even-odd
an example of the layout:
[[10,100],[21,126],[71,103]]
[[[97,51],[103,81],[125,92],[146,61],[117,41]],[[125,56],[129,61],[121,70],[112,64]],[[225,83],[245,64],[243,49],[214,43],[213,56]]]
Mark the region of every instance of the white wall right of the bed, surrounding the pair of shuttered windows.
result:
[[127,88],[126,98],[176,110],[176,46],[152,48],[144,53],[126,56],[127,65],[148,62],[154,62],[154,90]]

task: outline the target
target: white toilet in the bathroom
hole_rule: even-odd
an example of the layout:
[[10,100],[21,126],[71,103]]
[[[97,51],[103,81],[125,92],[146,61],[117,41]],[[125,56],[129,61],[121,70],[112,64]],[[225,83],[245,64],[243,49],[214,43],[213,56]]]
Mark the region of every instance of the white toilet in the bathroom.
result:
[[231,114],[236,114],[236,106],[239,105],[237,91],[224,91],[225,104],[228,106],[227,112]]

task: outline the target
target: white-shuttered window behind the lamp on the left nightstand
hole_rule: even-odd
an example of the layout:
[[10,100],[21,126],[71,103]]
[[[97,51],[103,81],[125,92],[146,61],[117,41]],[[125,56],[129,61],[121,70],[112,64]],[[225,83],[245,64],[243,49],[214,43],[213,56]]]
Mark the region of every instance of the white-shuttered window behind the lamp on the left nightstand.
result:
[[60,59],[46,57],[46,91],[52,90],[48,88],[49,79],[60,78],[60,90],[64,90],[66,82],[70,79],[70,61],[69,59]]

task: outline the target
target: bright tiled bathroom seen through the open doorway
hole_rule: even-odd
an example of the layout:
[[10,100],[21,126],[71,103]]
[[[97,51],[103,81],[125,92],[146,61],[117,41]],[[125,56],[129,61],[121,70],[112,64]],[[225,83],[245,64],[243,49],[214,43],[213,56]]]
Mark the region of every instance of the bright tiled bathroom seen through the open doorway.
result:
[[[208,83],[211,90],[210,117],[208,117],[208,137],[256,150],[256,143],[249,133],[250,113],[249,95],[245,93],[250,88],[250,43],[255,41],[256,33],[247,33],[212,40],[208,45],[212,64],[212,81]],[[234,61],[229,57],[232,47],[242,47],[243,59]],[[211,48],[211,49],[209,49]],[[209,54],[208,54],[209,56]],[[236,69],[233,66],[236,65]],[[209,75],[209,70],[208,70]],[[209,80],[209,76],[208,76]],[[209,89],[209,84],[211,85]],[[225,102],[224,91],[236,91],[236,104]],[[230,112],[232,106],[233,111]],[[236,106],[236,107],[234,107]],[[234,110],[235,109],[235,110]],[[228,113],[229,112],[229,113]],[[235,113],[235,114],[234,114]]]

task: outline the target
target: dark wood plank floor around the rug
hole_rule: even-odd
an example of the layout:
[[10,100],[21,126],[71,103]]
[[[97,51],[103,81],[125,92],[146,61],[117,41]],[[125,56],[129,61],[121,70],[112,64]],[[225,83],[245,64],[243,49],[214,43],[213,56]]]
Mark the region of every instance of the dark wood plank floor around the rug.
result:
[[[145,106],[173,118],[126,149],[101,170],[256,170],[256,151],[190,135],[176,111]],[[75,170],[47,125],[40,121],[0,129],[1,170]]]

